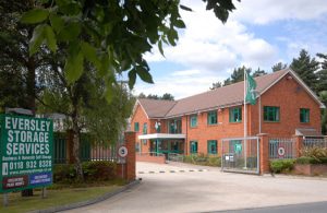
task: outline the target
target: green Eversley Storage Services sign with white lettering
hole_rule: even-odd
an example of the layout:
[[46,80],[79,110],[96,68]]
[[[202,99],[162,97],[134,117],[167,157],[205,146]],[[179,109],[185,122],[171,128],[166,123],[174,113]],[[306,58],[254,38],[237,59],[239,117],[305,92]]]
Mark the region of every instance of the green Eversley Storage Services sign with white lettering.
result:
[[0,192],[51,185],[52,121],[0,115]]

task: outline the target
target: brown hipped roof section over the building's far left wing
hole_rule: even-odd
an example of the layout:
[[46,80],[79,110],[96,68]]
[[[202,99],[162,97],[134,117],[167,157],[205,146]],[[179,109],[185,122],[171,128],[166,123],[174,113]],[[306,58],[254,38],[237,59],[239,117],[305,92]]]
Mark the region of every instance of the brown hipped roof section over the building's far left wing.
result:
[[140,98],[137,102],[143,107],[148,118],[164,118],[177,104],[174,100]]

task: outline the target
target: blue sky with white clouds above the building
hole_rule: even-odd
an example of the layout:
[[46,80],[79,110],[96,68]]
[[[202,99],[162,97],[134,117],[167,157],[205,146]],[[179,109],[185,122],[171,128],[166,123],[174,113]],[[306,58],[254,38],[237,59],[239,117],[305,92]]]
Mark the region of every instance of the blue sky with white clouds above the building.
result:
[[277,62],[290,64],[306,49],[312,57],[327,54],[327,0],[233,0],[237,10],[226,24],[202,0],[181,0],[186,28],[177,46],[157,47],[145,55],[155,84],[138,78],[140,93],[172,94],[175,99],[203,93],[245,66],[271,72]]

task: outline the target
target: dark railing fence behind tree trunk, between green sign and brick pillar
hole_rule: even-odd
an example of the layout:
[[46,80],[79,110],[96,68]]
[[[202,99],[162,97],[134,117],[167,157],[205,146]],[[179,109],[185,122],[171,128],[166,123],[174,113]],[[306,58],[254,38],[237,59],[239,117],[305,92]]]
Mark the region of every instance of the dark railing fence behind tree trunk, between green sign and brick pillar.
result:
[[[55,164],[66,164],[69,159],[69,147],[72,149],[73,145],[68,144],[66,133],[53,134],[53,162]],[[93,144],[92,139],[88,134],[81,134],[80,143],[80,158],[82,162],[87,161],[111,161],[116,162],[117,156],[117,144],[112,145],[100,145]]]

